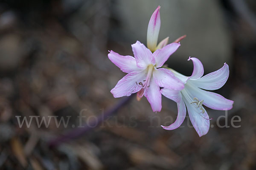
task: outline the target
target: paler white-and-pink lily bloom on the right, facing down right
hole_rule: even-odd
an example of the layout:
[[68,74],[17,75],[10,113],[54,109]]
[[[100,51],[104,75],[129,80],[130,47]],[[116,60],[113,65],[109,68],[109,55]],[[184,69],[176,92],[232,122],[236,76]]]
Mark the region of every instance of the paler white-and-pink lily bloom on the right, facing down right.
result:
[[[177,102],[178,115],[176,121],[169,126],[162,126],[166,130],[173,130],[179,127],[186,116],[186,108],[189,119],[196,132],[201,137],[209,131],[209,116],[203,105],[215,110],[230,110],[233,101],[223,96],[205,90],[217,90],[221,88],[229,77],[229,67],[226,63],[217,71],[209,73],[204,77],[204,67],[199,59],[189,57],[192,60],[194,69],[190,77],[186,77],[174,70],[172,72],[184,84],[185,88],[175,91],[168,88],[161,89],[161,93],[169,99]],[[202,90],[204,89],[204,90]],[[186,106],[185,106],[186,105]]]

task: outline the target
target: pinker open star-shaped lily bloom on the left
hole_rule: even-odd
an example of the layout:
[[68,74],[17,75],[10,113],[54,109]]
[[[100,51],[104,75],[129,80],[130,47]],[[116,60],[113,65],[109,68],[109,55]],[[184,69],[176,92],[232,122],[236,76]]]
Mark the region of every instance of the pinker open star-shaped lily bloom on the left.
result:
[[111,62],[121,71],[128,73],[111,90],[113,96],[115,98],[130,96],[138,92],[138,96],[143,97],[144,95],[148,99],[154,112],[161,111],[160,87],[174,90],[184,88],[183,82],[175,77],[172,71],[160,68],[179,46],[179,43],[171,43],[152,54],[145,45],[137,41],[131,45],[134,57],[122,56],[114,51],[109,51],[108,58]]

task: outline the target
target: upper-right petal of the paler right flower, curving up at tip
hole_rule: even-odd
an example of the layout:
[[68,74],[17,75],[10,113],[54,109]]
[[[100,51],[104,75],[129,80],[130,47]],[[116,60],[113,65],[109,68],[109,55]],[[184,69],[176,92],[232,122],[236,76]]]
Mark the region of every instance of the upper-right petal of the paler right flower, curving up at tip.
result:
[[209,73],[200,79],[194,80],[193,84],[205,90],[217,90],[221,88],[229,77],[229,68],[226,63],[217,71]]

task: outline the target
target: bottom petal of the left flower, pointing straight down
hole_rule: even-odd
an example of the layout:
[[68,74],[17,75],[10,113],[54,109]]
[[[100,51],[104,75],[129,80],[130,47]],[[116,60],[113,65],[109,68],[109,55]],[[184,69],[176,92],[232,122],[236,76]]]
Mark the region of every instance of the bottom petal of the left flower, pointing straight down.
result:
[[160,87],[154,82],[153,79],[150,80],[149,87],[145,91],[145,97],[151,105],[154,112],[160,112],[162,108],[162,95],[160,93]]

